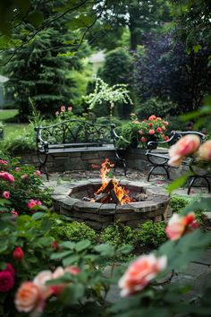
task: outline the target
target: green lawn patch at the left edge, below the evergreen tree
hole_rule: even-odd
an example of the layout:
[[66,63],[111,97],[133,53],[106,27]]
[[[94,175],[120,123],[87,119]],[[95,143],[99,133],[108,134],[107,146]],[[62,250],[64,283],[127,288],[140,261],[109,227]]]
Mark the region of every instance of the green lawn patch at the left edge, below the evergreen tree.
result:
[[0,121],[4,123],[4,139],[8,138],[10,133],[20,133],[21,130],[26,128],[28,124],[10,124],[10,123],[5,123],[5,120],[12,119],[13,116],[16,116],[18,114],[17,109],[4,109],[0,110]]

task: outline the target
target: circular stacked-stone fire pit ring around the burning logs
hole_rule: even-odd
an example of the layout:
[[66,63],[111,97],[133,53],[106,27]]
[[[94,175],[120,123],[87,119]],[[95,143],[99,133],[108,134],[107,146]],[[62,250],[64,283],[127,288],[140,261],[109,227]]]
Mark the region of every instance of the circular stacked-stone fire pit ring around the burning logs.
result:
[[130,192],[131,197],[139,201],[124,205],[83,201],[84,197],[92,198],[101,186],[100,179],[90,179],[58,186],[53,195],[55,210],[72,220],[86,222],[97,230],[113,224],[114,221],[138,227],[139,223],[148,220],[165,220],[169,202],[167,194],[159,193],[156,188],[151,189],[139,182],[122,180],[120,184]]

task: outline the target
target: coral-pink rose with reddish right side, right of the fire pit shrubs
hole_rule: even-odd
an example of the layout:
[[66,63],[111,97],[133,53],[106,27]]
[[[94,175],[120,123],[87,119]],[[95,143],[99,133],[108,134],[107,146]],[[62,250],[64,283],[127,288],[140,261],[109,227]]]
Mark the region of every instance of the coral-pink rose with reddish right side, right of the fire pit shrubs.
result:
[[174,213],[165,228],[165,233],[170,240],[177,240],[185,233],[195,230],[198,226],[193,212],[186,216],[179,216],[177,213]]

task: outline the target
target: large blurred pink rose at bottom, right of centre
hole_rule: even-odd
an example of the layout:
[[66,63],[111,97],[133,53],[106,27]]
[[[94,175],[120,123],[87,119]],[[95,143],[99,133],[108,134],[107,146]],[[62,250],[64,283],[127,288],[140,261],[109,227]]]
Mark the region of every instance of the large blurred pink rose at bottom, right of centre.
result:
[[150,280],[156,278],[157,274],[165,270],[167,258],[162,256],[156,258],[154,254],[141,255],[129,266],[122,278],[119,287],[122,288],[121,296],[129,296],[147,287]]

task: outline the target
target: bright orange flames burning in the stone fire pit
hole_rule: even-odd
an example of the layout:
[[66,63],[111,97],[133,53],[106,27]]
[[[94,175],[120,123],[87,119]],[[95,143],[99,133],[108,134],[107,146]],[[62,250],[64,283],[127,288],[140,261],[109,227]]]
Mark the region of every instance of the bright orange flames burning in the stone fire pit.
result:
[[[107,174],[110,172],[111,167],[114,167],[114,164],[111,164],[109,159],[105,159],[100,169],[102,185],[97,190],[97,194],[102,193],[102,191],[105,189],[107,184],[110,182],[110,179],[108,178]],[[114,184],[114,193],[121,205],[132,201],[132,199],[130,198],[128,194],[129,191],[125,190],[121,185],[119,185],[115,177],[113,177],[112,183]]]

